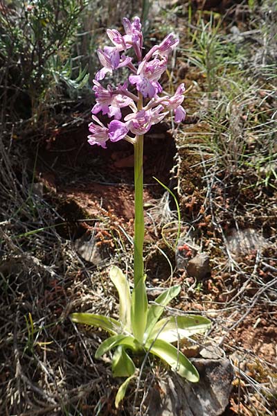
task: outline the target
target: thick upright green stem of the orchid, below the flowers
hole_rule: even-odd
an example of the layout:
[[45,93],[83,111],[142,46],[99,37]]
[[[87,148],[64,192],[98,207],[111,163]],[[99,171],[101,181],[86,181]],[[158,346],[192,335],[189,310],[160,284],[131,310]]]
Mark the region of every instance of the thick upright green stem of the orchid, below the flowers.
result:
[[[142,97],[139,98],[138,110],[141,110]],[[134,211],[134,290],[131,317],[134,336],[143,343],[148,312],[143,265],[143,135],[136,136],[134,144]]]

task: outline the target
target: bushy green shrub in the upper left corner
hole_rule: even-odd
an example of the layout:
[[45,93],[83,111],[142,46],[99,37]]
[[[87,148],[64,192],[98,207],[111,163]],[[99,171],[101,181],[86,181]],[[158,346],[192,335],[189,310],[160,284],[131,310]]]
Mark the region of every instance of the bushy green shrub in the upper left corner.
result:
[[[86,0],[14,1],[0,15],[0,67],[2,88],[22,118],[38,121],[42,101],[60,80],[71,88],[87,82],[85,71],[72,80],[71,47],[78,17]],[[8,99],[6,97],[6,101]],[[31,113],[26,108],[31,108]],[[12,110],[12,109],[11,109]]]

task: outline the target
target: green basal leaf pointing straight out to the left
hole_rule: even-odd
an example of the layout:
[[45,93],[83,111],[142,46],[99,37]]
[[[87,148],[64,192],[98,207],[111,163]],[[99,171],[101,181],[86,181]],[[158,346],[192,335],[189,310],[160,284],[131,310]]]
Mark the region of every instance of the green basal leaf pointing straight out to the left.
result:
[[70,317],[73,322],[99,327],[112,334],[122,332],[120,322],[104,315],[96,315],[94,313],[71,313]]

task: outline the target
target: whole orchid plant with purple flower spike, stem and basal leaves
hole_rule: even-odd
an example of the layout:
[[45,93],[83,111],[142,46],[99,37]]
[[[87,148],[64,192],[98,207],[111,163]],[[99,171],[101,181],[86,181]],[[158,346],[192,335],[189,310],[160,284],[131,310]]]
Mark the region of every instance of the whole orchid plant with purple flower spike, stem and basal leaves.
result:
[[[105,329],[110,336],[97,349],[100,358],[114,349],[112,372],[114,376],[125,376],[127,380],[116,395],[116,407],[125,395],[127,385],[136,372],[131,355],[154,354],[168,363],[173,370],[188,381],[199,381],[199,374],[192,363],[172,345],[183,338],[203,333],[211,322],[201,315],[181,315],[161,318],[165,306],[179,294],[180,286],[172,286],[148,304],[143,265],[144,216],[143,216],[143,137],[151,126],[159,123],[170,112],[175,113],[175,122],[184,120],[186,112],[181,106],[184,101],[184,84],[179,85],[175,94],[163,92],[159,83],[166,71],[168,55],[179,43],[170,33],[159,44],[152,46],[143,58],[143,34],[139,17],[133,21],[123,19],[125,35],[108,29],[107,35],[113,46],[98,49],[102,69],[93,80],[96,105],[89,124],[89,144],[107,148],[107,141],[127,140],[134,145],[134,288],[132,293],[125,274],[111,266],[109,275],[119,295],[119,320],[92,313],[73,313],[73,322],[93,325]],[[133,49],[133,58],[126,55]],[[136,62],[134,62],[136,61]],[[131,74],[123,85],[103,87],[100,81],[107,74],[125,67]],[[123,118],[121,109],[127,110]],[[96,116],[102,113],[111,121],[104,125]]]

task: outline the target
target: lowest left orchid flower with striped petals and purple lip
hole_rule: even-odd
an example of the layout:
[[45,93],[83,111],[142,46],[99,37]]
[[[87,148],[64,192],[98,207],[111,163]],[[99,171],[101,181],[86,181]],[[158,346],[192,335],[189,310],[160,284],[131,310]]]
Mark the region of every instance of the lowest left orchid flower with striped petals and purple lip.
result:
[[129,131],[127,124],[122,121],[113,120],[109,123],[108,127],[105,127],[96,116],[92,116],[92,119],[93,121],[96,121],[97,124],[89,123],[91,135],[88,136],[88,142],[91,146],[97,144],[105,149],[107,148],[107,140],[118,141],[124,139]]

